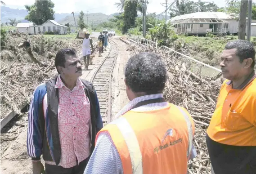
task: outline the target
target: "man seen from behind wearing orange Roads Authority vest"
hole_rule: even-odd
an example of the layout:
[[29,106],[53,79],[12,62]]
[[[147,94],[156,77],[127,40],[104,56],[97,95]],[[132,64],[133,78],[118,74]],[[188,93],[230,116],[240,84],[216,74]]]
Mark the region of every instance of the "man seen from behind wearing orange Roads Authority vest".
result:
[[139,53],[125,67],[128,103],[96,136],[84,174],[186,174],[196,156],[194,123],[163,98],[167,70],[155,53]]

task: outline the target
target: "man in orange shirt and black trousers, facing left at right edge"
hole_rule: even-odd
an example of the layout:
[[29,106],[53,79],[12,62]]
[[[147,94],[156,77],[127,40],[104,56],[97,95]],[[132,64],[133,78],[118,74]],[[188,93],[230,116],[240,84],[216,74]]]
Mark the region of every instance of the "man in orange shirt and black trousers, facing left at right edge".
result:
[[256,74],[251,42],[225,46],[220,67],[227,80],[207,129],[211,174],[256,174]]

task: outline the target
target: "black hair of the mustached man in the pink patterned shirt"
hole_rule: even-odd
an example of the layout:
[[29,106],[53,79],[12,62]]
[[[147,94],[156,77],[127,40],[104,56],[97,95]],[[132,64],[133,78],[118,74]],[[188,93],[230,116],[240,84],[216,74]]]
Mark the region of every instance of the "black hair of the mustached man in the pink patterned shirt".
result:
[[[75,55],[76,56],[76,50],[75,49],[61,49],[58,51],[58,53],[56,54],[55,56],[55,67],[58,71],[58,66],[61,66],[61,67],[65,67],[65,62],[66,62],[66,55]],[[60,72],[58,71],[58,73],[60,74]]]

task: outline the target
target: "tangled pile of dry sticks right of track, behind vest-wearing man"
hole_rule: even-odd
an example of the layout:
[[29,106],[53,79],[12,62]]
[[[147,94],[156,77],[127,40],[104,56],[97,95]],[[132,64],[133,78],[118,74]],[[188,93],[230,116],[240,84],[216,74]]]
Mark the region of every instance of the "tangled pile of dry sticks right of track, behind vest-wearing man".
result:
[[201,76],[189,71],[193,62],[174,55],[167,56],[162,50],[156,50],[141,45],[139,48],[131,45],[128,48],[132,54],[143,51],[157,52],[166,62],[169,79],[166,82],[164,97],[169,103],[185,107],[195,123],[194,146],[197,157],[188,162],[189,174],[209,174],[210,159],[206,146],[206,130],[211,116],[216,108],[216,101],[223,79]]

